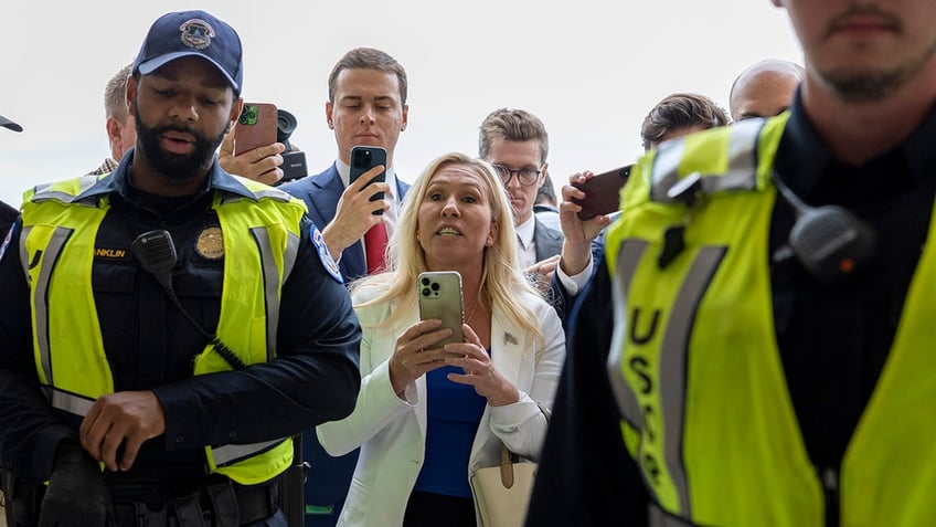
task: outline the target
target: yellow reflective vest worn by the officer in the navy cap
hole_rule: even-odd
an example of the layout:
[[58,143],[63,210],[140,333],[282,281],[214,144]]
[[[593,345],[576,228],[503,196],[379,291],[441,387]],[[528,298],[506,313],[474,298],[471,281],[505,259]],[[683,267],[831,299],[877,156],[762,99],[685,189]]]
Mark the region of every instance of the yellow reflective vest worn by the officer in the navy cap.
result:
[[[85,176],[30,190],[22,210],[20,254],[31,288],[40,383],[54,408],[75,415],[114,392],[92,291],[95,240],[109,199],[76,199],[98,179]],[[252,365],[275,356],[279,295],[296,261],[305,205],[280,190],[238,180],[253,199],[215,192],[212,203],[225,259],[216,334]],[[231,366],[211,344],[194,359],[196,376],[226,370]],[[205,455],[212,472],[253,485],[289,466],[292,440],[206,445]]]

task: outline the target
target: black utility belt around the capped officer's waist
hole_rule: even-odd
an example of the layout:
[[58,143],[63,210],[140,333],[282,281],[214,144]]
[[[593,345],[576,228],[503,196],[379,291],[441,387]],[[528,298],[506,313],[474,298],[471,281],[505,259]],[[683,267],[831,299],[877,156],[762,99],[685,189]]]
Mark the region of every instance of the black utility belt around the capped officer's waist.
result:
[[259,485],[238,485],[217,478],[192,493],[166,496],[162,504],[117,503],[120,527],[237,527],[276,514],[279,509],[279,478]]

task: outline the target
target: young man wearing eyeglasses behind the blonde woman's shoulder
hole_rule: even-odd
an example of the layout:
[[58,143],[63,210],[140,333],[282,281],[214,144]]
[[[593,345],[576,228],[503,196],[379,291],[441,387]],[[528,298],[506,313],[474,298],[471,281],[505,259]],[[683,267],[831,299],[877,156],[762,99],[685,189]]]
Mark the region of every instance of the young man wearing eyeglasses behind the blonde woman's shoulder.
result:
[[549,288],[562,251],[562,231],[536,220],[536,190],[546,179],[550,137],[535,115],[515,108],[491,112],[480,126],[478,154],[494,166],[510,198],[520,264]]

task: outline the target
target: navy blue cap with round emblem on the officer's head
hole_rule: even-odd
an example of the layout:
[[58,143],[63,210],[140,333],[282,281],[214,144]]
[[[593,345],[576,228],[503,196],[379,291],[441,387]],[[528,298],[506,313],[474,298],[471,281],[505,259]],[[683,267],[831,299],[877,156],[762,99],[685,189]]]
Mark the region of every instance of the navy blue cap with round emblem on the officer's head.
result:
[[201,56],[214,64],[234,87],[234,94],[241,95],[241,36],[226,22],[204,11],[178,11],[157,19],[134,61],[134,74],[149,75],[183,56]]

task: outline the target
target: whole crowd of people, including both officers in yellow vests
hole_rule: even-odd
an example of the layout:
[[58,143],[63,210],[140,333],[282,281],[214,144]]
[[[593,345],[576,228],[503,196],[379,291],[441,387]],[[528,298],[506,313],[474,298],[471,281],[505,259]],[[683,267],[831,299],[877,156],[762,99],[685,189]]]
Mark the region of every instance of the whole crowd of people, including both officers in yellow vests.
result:
[[[9,526],[479,526],[501,445],[540,464],[530,527],[924,525],[936,12],[773,3],[805,64],[663,96],[589,219],[520,108],[407,182],[373,48],[327,80],[333,160],[279,185],[283,143],[236,149],[249,44],[157,19],[109,157],[0,202]],[[354,179],[357,146],[386,161]]]

